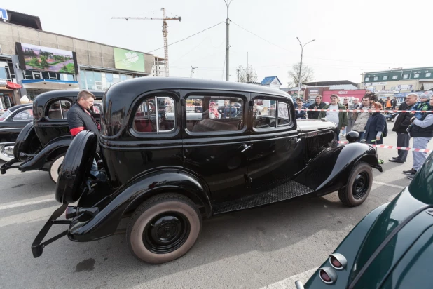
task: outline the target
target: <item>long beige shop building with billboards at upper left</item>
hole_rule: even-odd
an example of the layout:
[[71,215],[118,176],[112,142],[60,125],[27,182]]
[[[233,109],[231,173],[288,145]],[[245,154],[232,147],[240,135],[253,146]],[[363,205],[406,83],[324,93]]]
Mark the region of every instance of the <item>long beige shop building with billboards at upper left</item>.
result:
[[[11,105],[58,89],[106,90],[142,76],[166,76],[165,59],[42,30],[37,16],[7,11],[0,22],[0,93]],[[1,81],[15,83],[7,88]],[[9,92],[13,90],[13,93]],[[1,95],[0,95],[1,96]]]

